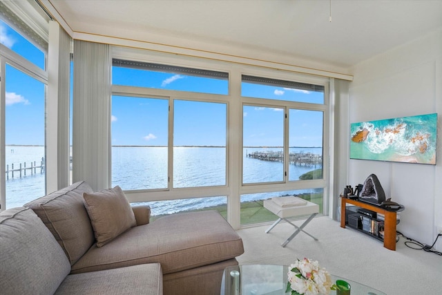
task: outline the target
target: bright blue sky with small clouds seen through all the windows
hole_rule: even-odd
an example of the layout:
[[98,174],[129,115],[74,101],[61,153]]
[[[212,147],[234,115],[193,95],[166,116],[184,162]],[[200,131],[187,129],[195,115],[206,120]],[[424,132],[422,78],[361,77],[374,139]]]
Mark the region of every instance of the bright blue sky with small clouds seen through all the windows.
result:
[[[44,68],[44,54],[2,22],[0,41]],[[43,145],[44,84],[12,66],[7,66],[6,75],[6,144]],[[227,80],[128,68],[114,67],[113,83],[228,94]],[[242,95],[323,103],[323,93],[249,83],[242,84]],[[168,107],[167,99],[113,97],[112,144],[165,146],[169,125]],[[173,141],[176,146],[225,146],[227,104],[175,100],[174,108]],[[291,146],[322,146],[322,113],[291,111],[290,115]],[[282,145],[282,109],[244,106],[243,118],[244,146]]]

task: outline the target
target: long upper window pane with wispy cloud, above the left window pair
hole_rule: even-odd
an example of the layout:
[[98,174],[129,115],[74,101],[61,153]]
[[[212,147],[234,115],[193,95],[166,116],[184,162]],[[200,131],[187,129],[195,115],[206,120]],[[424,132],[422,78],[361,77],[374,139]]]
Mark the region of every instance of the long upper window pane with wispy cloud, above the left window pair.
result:
[[229,75],[211,70],[198,70],[136,61],[113,60],[113,84],[227,95]]

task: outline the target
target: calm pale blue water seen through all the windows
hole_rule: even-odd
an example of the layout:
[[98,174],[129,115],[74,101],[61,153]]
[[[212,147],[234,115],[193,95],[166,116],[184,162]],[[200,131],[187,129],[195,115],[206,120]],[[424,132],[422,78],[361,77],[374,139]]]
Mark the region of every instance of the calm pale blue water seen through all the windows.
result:
[[[270,162],[247,157],[253,151],[281,151],[282,149],[244,148],[244,176],[245,183],[267,182],[282,180],[282,162]],[[320,148],[291,149],[290,152],[322,154]],[[167,149],[164,147],[122,147],[113,146],[113,179],[112,186],[119,185],[122,189],[162,189],[167,186]],[[6,164],[36,162],[39,165],[44,156],[43,146],[6,146]],[[226,184],[226,149],[214,147],[177,147],[174,153],[174,187],[202,187]],[[320,166],[290,165],[290,179],[298,179]],[[11,169],[11,168],[10,168]],[[154,171],[154,173],[153,173]],[[44,174],[37,173],[19,178],[17,172],[6,181],[7,207],[17,207],[44,196]],[[311,192],[312,190],[297,191]],[[274,196],[274,193],[255,193],[242,196],[241,201],[263,200]],[[204,207],[225,204],[226,198],[192,198],[187,200],[171,200],[166,202],[149,202],[153,215],[174,213],[177,211],[200,209]]]

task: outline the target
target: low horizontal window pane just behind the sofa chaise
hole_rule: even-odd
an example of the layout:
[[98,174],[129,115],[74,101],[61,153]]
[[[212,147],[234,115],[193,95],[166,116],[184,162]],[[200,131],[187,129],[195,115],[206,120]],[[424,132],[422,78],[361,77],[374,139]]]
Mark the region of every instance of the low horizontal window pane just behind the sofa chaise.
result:
[[189,211],[216,210],[227,219],[227,197],[189,198],[168,201],[137,202],[133,206],[148,205],[151,207],[151,220],[161,216]]

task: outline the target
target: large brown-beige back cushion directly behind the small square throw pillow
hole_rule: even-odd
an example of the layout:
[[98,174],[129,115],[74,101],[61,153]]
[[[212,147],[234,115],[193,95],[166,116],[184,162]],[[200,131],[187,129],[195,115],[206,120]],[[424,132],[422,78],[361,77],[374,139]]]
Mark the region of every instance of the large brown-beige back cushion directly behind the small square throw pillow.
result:
[[64,249],[73,265],[94,244],[95,238],[83,202],[83,193],[93,190],[86,182],[69,187],[25,204],[30,207]]

